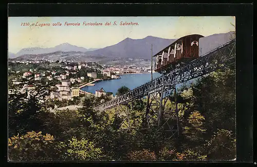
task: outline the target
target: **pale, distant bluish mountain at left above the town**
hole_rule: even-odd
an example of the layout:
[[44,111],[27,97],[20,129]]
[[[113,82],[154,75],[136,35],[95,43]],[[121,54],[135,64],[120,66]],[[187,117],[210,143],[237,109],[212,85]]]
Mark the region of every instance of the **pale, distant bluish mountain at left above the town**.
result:
[[26,55],[26,54],[43,54],[43,53],[51,53],[51,52],[57,52],[57,51],[86,52],[88,50],[86,48],[83,48],[83,47],[78,47],[78,46],[75,46],[75,45],[70,45],[68,43],[64,43],[64,44],[60,44],[58,46],[55,46],[53,48],[40,48],[40,47],[25,48],[25,49],[22,49],[19,52],[17,52],[16,56],[21,56],[21,55]]

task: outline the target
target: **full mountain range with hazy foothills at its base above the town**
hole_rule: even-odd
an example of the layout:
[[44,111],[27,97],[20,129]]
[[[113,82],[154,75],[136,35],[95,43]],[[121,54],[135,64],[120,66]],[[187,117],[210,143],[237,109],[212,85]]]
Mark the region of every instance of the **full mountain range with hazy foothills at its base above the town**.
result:
[[[213,34],[199,39],[200,54],[203,55],[231,40],[232,32]],[[154,36],[146,36],[142,39],[125,38],[118,44],[102,49],[77,47],[68,43],[53,48],[27,48],[22,49],[16,55],[9,53],[9,58],[19,59],[78,59],[98,61],[121,61],[124,58],[151,59],[151,44],[153,55],[172,44],[176,39],[164,39]],[[17,59],[16,58],[16,59]],[[127,61],[127,59],[126,59]]]

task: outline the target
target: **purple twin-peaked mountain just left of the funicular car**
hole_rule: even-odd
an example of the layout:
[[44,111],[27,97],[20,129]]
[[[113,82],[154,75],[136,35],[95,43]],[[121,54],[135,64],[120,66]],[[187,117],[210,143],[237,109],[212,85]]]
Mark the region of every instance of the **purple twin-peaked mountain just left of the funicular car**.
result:
[[108,46],[95,51],[86,52],[88,55],[100,55],[106,57],[130,57],[151,59],[151,44],[153,44],[153,54],[163,47],[167,47],[175,39],[164,39],[154,36],[146,36],[142,39],[125,38],[116,45]]

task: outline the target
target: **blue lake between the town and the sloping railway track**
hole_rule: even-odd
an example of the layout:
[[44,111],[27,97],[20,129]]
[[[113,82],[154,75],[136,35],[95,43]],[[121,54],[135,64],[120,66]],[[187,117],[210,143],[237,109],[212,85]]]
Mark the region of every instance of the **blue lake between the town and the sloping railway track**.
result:
[[[153,78],[159,76],[161,76],[161,74],[157,72],[153,73]],[[127,88],[130,88],[130,90],[132,90],[151,80],[150,73],[124,74],[120,75],[120,77],[120,79],[101,80],[95,82],[95,86],[83,87],[81,88],[81,90],[95,94],[96,90],[100,90],[101,88],[103,88],[105,92],[113,92],[113,94],[115,95],[117,93],[117,90],[122,86],[126,86]]]

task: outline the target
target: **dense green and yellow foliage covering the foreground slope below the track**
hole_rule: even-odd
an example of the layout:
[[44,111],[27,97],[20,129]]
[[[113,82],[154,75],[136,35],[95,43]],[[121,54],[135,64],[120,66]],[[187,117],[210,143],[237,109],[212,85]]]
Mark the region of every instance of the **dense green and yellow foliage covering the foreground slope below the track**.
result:
[[[93,107],[109,96],[83,97],[76,111],[51,113],[37,96],[9,97],[10,160],[232,160],[235,158],[235,68],[218,70],[177,92],[181,133],[170,138],[157,126],[145,127],[146,100],[131,103],[132,130],[121,130],[124,116]],[[44,94],[45,87],[38,91]],[[129,89],[122,87],[119,94]],[[167,108],[173,108],[169,97]],[[77,101],[76,101],[77,100]]]

